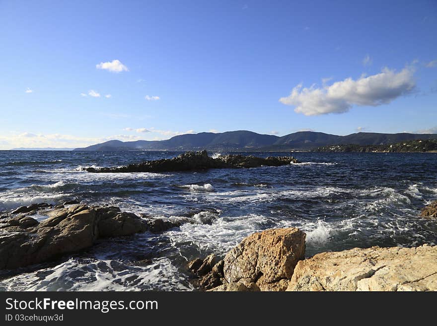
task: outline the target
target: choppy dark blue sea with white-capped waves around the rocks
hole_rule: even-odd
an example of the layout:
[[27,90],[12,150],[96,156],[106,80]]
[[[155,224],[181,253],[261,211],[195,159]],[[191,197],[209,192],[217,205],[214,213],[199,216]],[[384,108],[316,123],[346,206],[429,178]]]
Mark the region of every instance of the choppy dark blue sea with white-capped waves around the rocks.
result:
[[162,234],[100,241],[60,261],[2,271],[0,289],[195,290],[186,261],[225,254],[245,236],[274,227],[305,230],[307,256],[437,244],[436,220],[419,217],[420,208],[437,197],[434,153],[294,153],[303,163],[205,172],[81,171],[176,154],[0,151],[0,210],[78,199],[198,221]]

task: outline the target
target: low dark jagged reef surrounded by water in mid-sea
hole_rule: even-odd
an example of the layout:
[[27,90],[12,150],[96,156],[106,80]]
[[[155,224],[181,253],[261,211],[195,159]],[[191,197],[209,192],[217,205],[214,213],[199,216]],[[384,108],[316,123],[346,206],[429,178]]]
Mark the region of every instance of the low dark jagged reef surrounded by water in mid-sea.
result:
[[139,164],[117,168],[86,168],[88,172],[172,172],[189,170],[206,170],[218,168],[256,168],[260,166],[281,166],[298,163],[292,156],[255,157],[252,155],[223,155],[218,158],[208,156],[206,150],[186,152],[171,159],[146,161]]

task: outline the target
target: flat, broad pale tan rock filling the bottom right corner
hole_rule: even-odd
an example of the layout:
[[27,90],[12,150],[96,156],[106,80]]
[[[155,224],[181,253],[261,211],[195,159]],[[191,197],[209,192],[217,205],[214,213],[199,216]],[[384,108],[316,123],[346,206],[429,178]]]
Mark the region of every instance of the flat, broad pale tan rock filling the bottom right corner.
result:
[[436,291],[437,246],[351,249],[299,261],[287,291]]

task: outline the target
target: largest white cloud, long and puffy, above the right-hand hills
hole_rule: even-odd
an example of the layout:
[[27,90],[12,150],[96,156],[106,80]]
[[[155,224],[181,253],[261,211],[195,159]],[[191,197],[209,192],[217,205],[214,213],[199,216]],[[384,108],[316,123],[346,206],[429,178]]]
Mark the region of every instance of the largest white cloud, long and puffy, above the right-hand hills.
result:
[[384,68],[375,75],[361,76],[357,80],[346,78],[321,88],[315,85],[302,88],[302,84],[298,84],[289,96],[279,101],[295,106],[294,111],[305,116],[344,113],[353,105],[378,106],[408,94],[416,86],[413,74],[412,67],[405,67],[400,72]]

